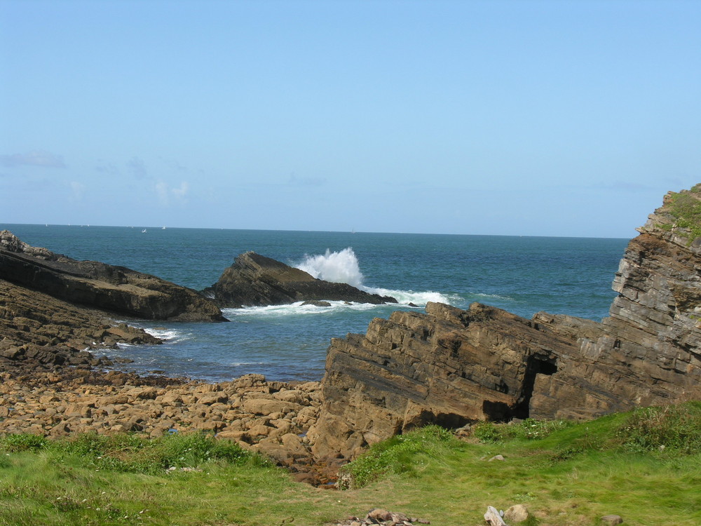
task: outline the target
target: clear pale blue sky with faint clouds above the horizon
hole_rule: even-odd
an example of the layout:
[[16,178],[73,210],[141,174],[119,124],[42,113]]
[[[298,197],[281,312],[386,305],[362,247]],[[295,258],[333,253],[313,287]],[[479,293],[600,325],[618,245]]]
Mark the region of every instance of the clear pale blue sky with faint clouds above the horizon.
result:
[[0,0],[0,223],[630,238],[698,1]]

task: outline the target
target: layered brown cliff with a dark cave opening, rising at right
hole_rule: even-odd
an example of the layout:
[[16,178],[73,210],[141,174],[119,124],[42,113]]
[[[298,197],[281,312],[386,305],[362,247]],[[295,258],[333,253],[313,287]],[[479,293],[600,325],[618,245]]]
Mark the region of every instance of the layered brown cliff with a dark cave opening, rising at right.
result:
[[316,456],[353,458],[431,422],[586,418],[701,398],[700,199],[697,187],[669,194],[639,229],[602,323],[428,304],[333,339],[308,433]]

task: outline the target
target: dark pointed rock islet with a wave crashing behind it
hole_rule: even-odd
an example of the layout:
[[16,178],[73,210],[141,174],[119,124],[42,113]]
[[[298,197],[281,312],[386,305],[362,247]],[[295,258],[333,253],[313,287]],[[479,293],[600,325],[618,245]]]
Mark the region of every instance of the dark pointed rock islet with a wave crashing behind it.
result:
[[284,305],[335,300],[357,303],[397,303],[393,297],[363,292],[348,283],[331,283],[256,252],[238,256],[219,281],[207,289],[222,307]]

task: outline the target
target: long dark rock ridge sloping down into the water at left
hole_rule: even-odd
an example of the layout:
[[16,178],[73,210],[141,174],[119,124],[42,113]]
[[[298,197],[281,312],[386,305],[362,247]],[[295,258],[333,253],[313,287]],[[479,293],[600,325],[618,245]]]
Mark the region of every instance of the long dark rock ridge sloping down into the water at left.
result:
[[226,321],[195,290],[125,267],[76,261],[0,232],[0,278],[72,304],[154,320]]

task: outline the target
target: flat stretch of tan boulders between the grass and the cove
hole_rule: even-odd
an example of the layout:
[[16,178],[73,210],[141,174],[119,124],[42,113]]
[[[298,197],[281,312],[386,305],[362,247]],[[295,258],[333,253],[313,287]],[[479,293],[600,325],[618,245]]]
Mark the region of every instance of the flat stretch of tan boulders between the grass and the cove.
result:
[[75,367],[28,373],[0,373],[0,434],[212,433],[266,454],[304,482],[334,476],[314,465],[306,438],[319,414],[319,382],[246,375],[205,384]]

